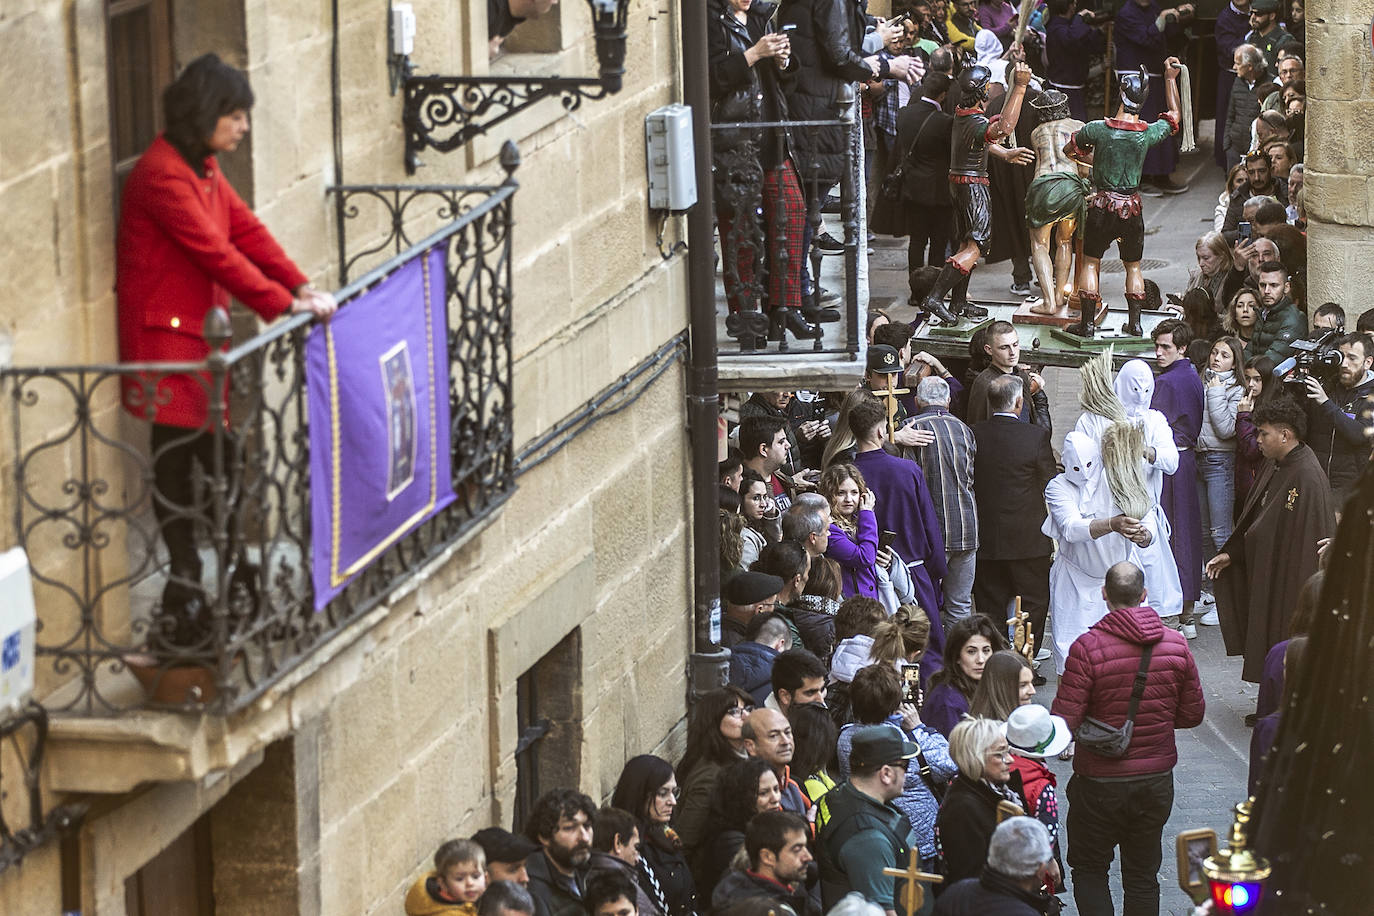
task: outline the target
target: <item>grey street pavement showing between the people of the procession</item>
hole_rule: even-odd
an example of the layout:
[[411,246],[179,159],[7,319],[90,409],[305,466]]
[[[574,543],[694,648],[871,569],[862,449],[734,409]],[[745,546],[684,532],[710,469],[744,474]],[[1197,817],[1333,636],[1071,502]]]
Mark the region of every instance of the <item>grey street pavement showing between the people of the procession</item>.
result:
[[[1210,122],[1198,129],[1200,137],[1210,137]],[[1145,198],[1146,217],[1146,277],[1160,284],[1160,290],[1180,293],[1187,284],[1189,271],[1195,268],[1194,244],[1212,228],[1212,214],[1221,191],[1223,174],[1212,161],[1210,147],[1201,147],[1183,158],[1176,177],[1189,183],[1190,190],[1178,196]],[[1120,262],[1112,271],[1103,260],[1102,286],[1107,298],[1120,297],[1123,279]],[[1153,264],[1151,264],[1153,262]],[[915,309],[907,302],[907,242],[879,238],[874,242],[870,260],[871,308],[888,309],[893,317],[911,320]],[[970,298],[1009,299],[1011,262],[980,265],[970,283]],[[1048,368],[1044,372],[1054,413],[1054,444],[1058,448],[1065,433],[1073,428],[1079,408],[1077,369]],[[1051,608],[1052,614],[1052,608]],[[1241,658],[1227,658],[1221,645],[1221,632],[1215,626],[1198,626],[1198,639],[1190,643],[1202,676],[1206,695],[1206,718],[1195,729],[1178,732],[1179,765],[1175,769],[1173,814],[1164,831],[1164,864],[1160,871],[1161,913],[1180,916],[1191,912],[1191,902],[1178,887],[1178,865],[1173,839],[1179,831],[1210,827],[1220,836],[1231,824],[1232,808],[1245,798],[1246,773],[1250,754],[1250,729],[1245,715],[1254,711],[1257,687],[1241,681]],[[1048,706],[1055,695],[1052,662],[1044,662],[1041,673],[1048,684],[1037,691],[1037,700]],[[1065,786],[1073,772],[1070,762],[1050,761],[1059,777],[1059,823],[1068,817],[1069,803]],[[1121,902],[1118,861],[1113,864],[1113,895]],[[1066,913],[1077,913],[1072,887],[1063,894]]]

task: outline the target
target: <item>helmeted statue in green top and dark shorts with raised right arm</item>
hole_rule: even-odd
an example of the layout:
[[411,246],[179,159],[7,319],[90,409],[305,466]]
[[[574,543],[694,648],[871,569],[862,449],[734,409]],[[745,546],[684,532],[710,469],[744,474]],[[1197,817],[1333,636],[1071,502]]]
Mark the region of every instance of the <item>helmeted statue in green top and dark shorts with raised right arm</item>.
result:
[[1092,319],[1102,301],[1098,269],[1102,255],[1117,243],[1125,264],[1125,302],[1129,320],[1121,328],[1131,336],[1140,336],[1140,310],[1145,306],[1145,276],[1140,258],[1145,255],[1145,217],[1140,214],[1140,169],[1150,147],[1164,143],[1179,129],[1179,71],[1178,58],[1164,62],[1165,100],[1169,110],[1154,124],[1140,119],[1140,108],[1150,96],[1150,74],[1121,77],[1120,118],[1090,121],[1065,144],[1063,151],[1073,159],[1087,159],[1092,154],[1092,195],[1083,228],[1083,261],[1079,265],[1079,301],[1081,317],[1070,327],[1073,334],[1090,338]]

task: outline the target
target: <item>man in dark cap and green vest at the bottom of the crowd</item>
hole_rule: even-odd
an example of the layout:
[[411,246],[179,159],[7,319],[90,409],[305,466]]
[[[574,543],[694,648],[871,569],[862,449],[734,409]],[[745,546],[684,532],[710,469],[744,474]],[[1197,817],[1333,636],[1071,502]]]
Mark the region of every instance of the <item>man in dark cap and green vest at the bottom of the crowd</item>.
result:
[[[870,904],[897,915],[896,879],[883,875],[907,858],[911,824],[892,799],[901,795],[916,746],[892,725],[856,728],[849,751],[849,780],[818,802],[816,838],[820,898],[826,911],[856,891]],[[915,916],[905,913],[904,916]]]

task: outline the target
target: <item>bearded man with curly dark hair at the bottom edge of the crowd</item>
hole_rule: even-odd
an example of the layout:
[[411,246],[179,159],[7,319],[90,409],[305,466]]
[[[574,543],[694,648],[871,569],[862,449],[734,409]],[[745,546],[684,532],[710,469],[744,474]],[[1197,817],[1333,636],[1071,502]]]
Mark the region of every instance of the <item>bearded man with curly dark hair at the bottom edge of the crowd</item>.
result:
[[585,916],[595,817],[596,805],[576,788],[555,788],[534,802],[525,823],[525,835],[541,847],[525,860],[534,916]]

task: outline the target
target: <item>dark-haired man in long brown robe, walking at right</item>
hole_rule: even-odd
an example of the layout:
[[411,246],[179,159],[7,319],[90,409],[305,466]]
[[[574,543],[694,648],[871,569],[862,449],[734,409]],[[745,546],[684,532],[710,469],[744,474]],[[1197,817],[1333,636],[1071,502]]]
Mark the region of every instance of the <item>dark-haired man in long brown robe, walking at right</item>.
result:
[[1336,533],[1331,485],[1303,444],[1307,416],[1287,397],[1250,415],[1267,461],[1221,552],[1206,564],[1227,655],[1245,655],[1241,677],[1259,683],[1264,656],[1289,637],[1303,582],[1316,571],[1316,544]]

